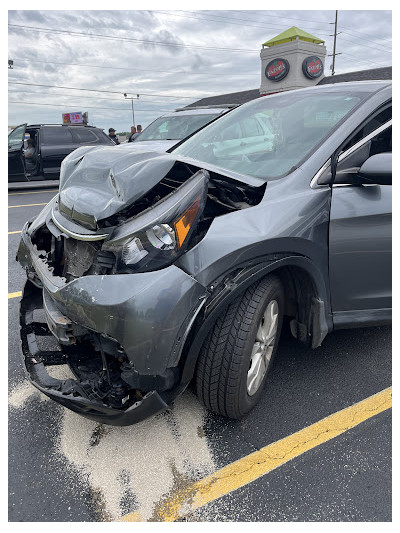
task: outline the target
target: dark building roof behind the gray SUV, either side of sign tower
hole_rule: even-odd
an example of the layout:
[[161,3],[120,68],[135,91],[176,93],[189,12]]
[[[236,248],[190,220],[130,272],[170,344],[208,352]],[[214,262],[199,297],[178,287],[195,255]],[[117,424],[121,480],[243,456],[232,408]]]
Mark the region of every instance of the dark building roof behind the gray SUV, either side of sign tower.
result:
[[[369,80],[391,80],[392,67],[374,68],[370,70],[359,70],[357,72],[346,72],[345,74],[335,74],[334,76],[325,76],[318,85],[328,83],[340,83],[343,81],[369,81]],[[186,107],[209,106],[209,105],[227,105],[227,104],[245,104],[250,100],[260,97],[259,89],[250,89],[236,93],[219,94],[217,96],[208,96],[193,102]]]

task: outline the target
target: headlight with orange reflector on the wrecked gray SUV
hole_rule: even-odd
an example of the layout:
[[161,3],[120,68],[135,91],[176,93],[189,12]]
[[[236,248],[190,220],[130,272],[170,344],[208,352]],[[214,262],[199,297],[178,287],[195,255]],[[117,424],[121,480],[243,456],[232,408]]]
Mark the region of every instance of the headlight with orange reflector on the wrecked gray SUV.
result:
[[208,180],[208,172],[196,172],[155,206],[118,226],[102,247],[115,254],[116,272],[157,270],[184,253],[204,210]]

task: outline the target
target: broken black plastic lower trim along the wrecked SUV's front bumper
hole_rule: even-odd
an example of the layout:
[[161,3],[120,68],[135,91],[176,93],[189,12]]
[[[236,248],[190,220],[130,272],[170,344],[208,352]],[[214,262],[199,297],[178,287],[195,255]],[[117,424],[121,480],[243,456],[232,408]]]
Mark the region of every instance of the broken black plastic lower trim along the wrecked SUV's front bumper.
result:
[[[43,307],[41,289],[27,282],[20,307],[21,349],[25,368],[32,385],[61,405],[99,423],[128,426],[155,415],[168,408],[157,391],[148,392],[127,408],[113,408],[101,399],[87,398],[79,394],[82,384],[73,379],[59,380],[51,377],[47,365],[67,364],[60,351],[42,351],[38,348],[36,336],[52,336],[47,324],[35,322],[33,312]],[[89,395],[90,396],[90,395]]]

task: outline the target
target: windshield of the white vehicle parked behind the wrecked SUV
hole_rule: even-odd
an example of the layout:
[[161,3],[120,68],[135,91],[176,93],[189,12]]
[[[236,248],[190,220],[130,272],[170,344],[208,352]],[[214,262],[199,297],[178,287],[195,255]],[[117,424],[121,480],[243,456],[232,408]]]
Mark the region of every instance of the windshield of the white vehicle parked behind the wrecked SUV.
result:
[[199,114],[160,117],[147,126],[147,128],[135,139],[135,142],[166,140],[180,141],[213,120],[216,116],[217,115],[215,114]]

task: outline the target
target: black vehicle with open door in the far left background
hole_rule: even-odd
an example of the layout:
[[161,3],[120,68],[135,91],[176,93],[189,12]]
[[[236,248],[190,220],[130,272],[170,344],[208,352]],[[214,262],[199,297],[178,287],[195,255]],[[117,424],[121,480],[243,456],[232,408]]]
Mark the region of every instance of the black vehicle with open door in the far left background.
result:
[[[25,134],[33,140],[32,157],[24,157]],[[114,145],[99,128],[84,125],[21,124],[8,135],[8,181],[58,179],[61,161],[79,146]]]

